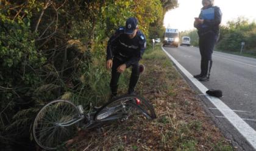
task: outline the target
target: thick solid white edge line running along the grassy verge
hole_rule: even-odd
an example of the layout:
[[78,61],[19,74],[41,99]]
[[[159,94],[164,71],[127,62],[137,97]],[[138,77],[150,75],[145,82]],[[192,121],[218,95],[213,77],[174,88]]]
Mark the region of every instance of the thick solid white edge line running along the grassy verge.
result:
[[[163,49],[163,47],[162,47]],[[183,68],[180,63],[173,58],[168,52],[163,49],[163,51],[168,55],[169,58],[173,61],[173,63],[180,69],[180,71],[185,74],[185,76],[190,79],[190,81],[203,93],[205,97],[207,97],[213,105],[224,115],[225,118],[229,120],[229,122],[244,136],[244,138],[256,149],[256,131],[250,127],[246,122],[243,121],[234,111],[232,111],[226,104],[224,104],[220,99],[212,96],[208,96],[205,92],[208,90],[201,82],[195,79],[190,72],[188,72],[185,68]]]

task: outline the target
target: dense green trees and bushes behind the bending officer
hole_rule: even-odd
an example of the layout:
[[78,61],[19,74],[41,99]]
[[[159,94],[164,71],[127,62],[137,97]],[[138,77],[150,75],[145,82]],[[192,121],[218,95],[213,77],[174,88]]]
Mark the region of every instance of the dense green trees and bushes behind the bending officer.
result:
[[[108,37],[129,16],[138,18],[148,37],[151,26],[162,30],[164,13],[176,5],[160,0],[1,1],[1,149],[14,149],[21,135],[27,141],[35,113],[52,99],[84,105],[106,100]],[[119,80],[121,91],[129,72]]]

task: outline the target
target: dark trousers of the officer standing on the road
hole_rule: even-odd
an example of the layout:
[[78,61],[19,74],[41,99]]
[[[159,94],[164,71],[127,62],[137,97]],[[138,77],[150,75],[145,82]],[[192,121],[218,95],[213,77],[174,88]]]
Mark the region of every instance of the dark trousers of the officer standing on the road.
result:
[[199,49],[201,54],[201,75],[210,76],[212,68],[212,54],[217,40],[217,36],[213,32],[208,32],[199,36]]

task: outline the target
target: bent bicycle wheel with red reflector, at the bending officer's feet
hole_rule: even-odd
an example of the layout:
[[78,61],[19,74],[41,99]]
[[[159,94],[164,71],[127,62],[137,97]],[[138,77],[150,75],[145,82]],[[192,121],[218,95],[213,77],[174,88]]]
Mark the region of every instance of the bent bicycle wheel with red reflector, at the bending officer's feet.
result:
[[103,105],[94,115],[94,121],[111,121],[119,118],[128,118],[137,114],[139,117],[154,119],[154,107],[148,100],[137,95],[124,95]]

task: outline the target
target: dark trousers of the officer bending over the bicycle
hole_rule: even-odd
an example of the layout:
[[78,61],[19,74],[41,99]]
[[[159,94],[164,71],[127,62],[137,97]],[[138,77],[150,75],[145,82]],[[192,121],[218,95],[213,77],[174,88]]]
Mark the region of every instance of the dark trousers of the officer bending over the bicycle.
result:
[[[110,88],[113,96],[116,96],[118,90],[118,80],[120,77],[120,73],[117,72],[118,66],[124,64],[124,61],[118,60],[117,58],[113,58],[113,66],[111,71],[111,80],[110,80]],[[134,91],[135,86],[137,85],[138,79],[140,77],[139,65],[135,63],[132,65],[132,74],[130,75],[130,83],[128,93],[132,93]]]

